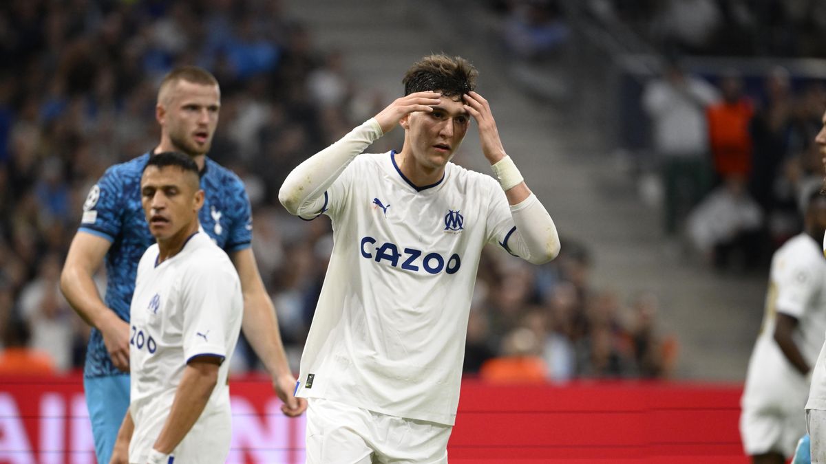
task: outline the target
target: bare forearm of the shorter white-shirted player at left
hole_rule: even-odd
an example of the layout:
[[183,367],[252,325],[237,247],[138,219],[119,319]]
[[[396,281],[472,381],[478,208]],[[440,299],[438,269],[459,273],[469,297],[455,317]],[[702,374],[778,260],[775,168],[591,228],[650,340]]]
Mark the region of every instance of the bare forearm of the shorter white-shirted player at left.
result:
[[175,390],[175,398],[169,408],[169,416],[152,447],[156,456],[161,454],[168,457],[201,417],[218,382],[221,361],[222,357],[204,355],[192,358],[187,367],[184,367],[181,383]]

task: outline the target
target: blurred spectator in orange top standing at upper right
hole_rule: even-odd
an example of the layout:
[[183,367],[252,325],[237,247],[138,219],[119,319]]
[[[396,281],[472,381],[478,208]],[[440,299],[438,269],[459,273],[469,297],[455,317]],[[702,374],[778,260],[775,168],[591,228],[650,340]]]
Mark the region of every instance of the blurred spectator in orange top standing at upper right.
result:
[[709,107],[711,159],[717,182],[729,176],[748,178],[752,169],[752,137],[748,132],[754,108],[743,95],[743,79],[734,70],[720,79],[723,100]]

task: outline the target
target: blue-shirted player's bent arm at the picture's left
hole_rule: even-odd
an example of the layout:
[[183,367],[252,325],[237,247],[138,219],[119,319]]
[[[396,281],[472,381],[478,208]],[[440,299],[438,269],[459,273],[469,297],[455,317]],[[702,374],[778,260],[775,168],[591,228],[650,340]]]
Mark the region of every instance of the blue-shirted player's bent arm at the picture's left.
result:
[[101,331],[115,367],[128,372],[129,324],[103,303],[93,280],[110,246],[109,240],[97,235],[83,231],[75,234],[60,272],[60,291],[87,324]]

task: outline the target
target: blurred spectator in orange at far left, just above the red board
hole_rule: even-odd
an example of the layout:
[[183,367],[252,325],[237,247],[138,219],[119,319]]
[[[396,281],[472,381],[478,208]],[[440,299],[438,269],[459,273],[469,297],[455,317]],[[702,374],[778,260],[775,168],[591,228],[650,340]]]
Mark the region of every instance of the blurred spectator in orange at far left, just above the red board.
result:
[[2,321],[2,343],[0,351],[0,375],[31,376],[55,373],[55,363],[48,354],[29,348],[29,325],[17,317],[7,317]]

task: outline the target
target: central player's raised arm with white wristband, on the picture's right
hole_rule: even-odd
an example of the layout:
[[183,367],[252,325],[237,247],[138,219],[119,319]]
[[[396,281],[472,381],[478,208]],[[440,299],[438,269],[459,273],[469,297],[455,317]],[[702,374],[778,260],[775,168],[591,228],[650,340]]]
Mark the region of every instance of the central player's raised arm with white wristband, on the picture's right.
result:
[[510,205],[515,230],[508,238],[510,245],[506,249],[530,263],[547,263],[557,257],[560,249],[559,234],[551,215],[530,192],[519,169],[506,154],[487,100],[477,92],[468,92],[463,98],[465,110],[477,121],[482,154],[491,163]]

